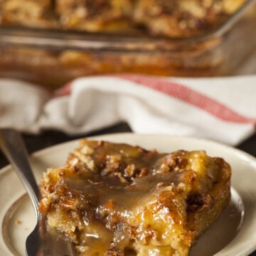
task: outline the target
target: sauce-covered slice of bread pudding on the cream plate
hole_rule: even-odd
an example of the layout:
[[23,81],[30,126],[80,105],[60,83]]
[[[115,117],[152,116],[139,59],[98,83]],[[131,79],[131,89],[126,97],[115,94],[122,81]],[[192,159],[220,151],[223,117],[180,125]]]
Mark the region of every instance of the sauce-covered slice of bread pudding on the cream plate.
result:
[[230,176],[205,151],[82,139],[43,174],[39,210],[79,255],[185,256],[228,205]]

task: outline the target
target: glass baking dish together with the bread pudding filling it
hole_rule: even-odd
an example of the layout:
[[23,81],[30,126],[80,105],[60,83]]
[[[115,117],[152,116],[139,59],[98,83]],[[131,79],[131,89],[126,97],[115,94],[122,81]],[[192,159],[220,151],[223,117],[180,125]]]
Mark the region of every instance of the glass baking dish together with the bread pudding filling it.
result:
[[0,0],[0,77],[53,90],[107,73],[234,75],[256,45],[252,1]]

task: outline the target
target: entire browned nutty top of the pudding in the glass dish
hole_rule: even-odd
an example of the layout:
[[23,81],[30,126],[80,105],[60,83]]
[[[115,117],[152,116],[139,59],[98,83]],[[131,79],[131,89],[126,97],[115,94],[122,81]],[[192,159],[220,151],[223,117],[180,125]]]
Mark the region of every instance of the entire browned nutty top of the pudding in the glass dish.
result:
[[1,0],[2,23],[187,37],[210,31],[245,0]]

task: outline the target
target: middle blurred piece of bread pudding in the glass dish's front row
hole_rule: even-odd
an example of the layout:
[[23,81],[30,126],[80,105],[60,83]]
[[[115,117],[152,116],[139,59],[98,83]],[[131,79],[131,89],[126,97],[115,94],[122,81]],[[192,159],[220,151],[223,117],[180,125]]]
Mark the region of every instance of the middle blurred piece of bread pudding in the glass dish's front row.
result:
[[129,28],[130,0],[57,0],[60,26],[85,31],[122,31]]

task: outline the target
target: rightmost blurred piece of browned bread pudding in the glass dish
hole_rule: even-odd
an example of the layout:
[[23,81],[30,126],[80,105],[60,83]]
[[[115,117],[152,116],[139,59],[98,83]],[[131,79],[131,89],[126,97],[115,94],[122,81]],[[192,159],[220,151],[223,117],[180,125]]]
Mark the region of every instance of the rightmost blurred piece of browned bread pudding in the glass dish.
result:
[[243,0],[140,0],[134,9],[134,20],[154,35],[196,36],[219,26],[243,3]]

